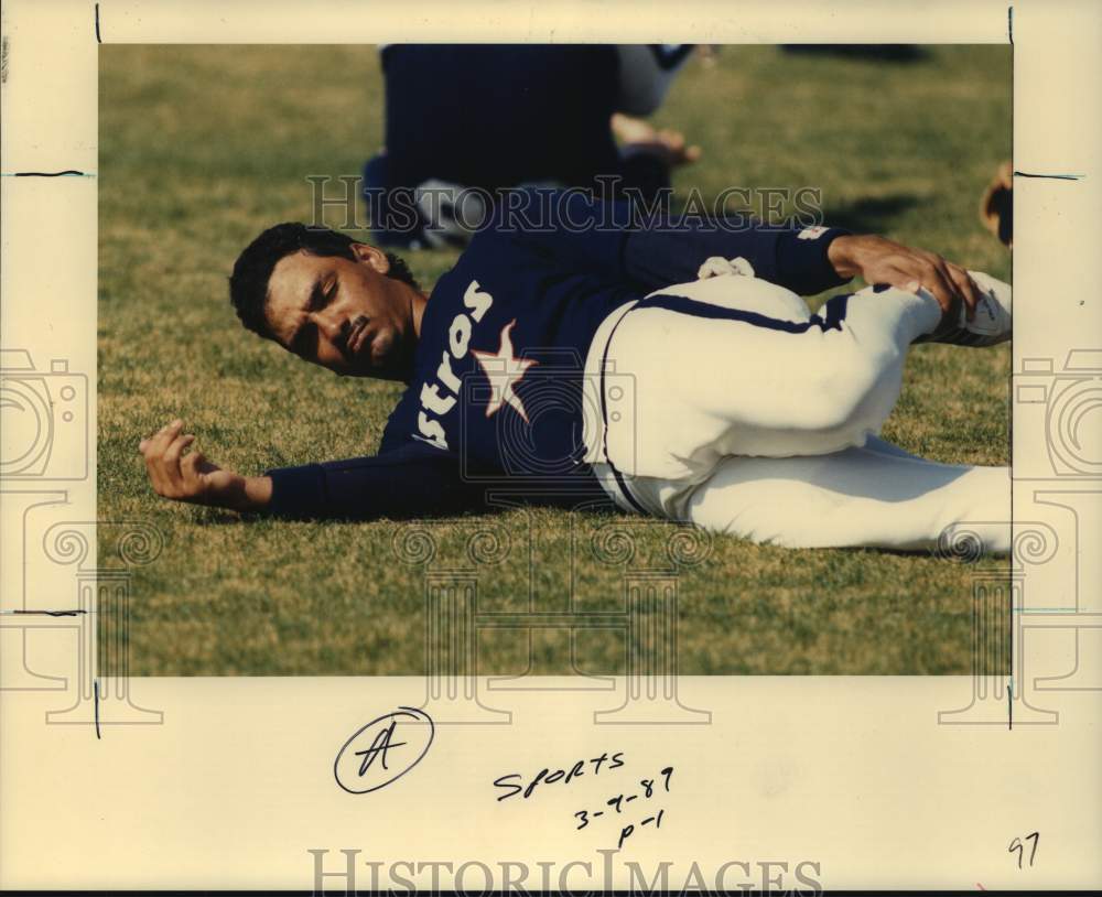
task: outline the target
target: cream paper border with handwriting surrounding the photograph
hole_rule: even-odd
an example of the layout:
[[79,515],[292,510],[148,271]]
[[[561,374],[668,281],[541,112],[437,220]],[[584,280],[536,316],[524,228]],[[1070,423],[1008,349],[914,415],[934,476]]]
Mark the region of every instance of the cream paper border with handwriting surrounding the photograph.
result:
[[[1084,551],[1099,542],[1102,468],[1074,430],[1102,388],[1102,347],[1089,337],[1102,333],[1102,312],[1084,293],[1102,281],[1091,245],[1102,133],[1096,116],[1081,114],[1100,108],[1102,10],[1071,0],[884,4],[875,14],[863,2],[679,3],[646,14],[623,3],[497,2],[464,4],[458,19],[454,4],[412,9],[4,8],[0,376],[29,389],[41,380],[72,404],[43,407],[25,443],[46,440],[44,460],[0,480],[0,522],[18,537],[4,539],[0,607],[0,885],[310,889],[344,887],[354,867],[369,876],[412,863],[406,874],[420,876],[418,864],[446,862],[485,865],[500,886],[503,863],[547,862],[568,875],[551,879],[560,887],[602,875],[634,887],[627,861],[650,880],[655,857],[672,864],[677,887],[693,866],[711,886],[724,864],[752,867],[752,884],[767,887],[760,866],[781,863],[787,887],[810,887],[791,877],[801,867],[830,889],[1102,882],[1102,576]],[[1015,552],[1009,577],[976,565],[969,596],[977,633],[1012,634],[1011,676],[648,674],[579,690],[570,678],[505,688],[451,671],[435,693],[423,677],[130,678],[131,580],[155,562],[164,534],[148,521],[97,519],[99,45],[702,34],[723,44],[1013,43]],[[63,425],[80,420],[83,432]],[[105,561],[97,540],[108,528],[117,551]],[[105,615],[117,644],[97,651]],[[611,692],[638,700],[617,710]],[[425,707],[435,728],[415,770],[370,793],[348,793],[339,772],[334,782],[344,748],[369,726]],[[663,726],[657,737],[653,725]],[[622,754],[633,779],[677,770],[660,835],[635,820],[633,855],[603,853],[626,826],[572,824],[574,811],[620,787],[615,778],[497,799],[504,775],[605,753]],[[1037,863],[1026,851],[1023,865],[1035,833]]]

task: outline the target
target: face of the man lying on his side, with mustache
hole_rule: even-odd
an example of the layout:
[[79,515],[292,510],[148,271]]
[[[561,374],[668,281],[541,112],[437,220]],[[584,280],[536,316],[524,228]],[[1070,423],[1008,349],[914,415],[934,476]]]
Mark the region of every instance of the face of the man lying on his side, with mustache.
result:
[[264,312],[277,342],[341,375],[400,379],[414,342],[407,288],[383,252],[354,244],[356,259],[292,252],[268,280]]

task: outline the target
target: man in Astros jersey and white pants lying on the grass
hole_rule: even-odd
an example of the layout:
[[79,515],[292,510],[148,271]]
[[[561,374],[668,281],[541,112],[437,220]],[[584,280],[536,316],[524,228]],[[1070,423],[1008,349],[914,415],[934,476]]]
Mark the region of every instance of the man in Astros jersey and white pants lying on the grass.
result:
[[[1008,550],[1007,468],[938,464],[876,436],[911,345],[1009,338],[1006,284],[877,236],[612,227],[625,209],[554,198],[539,228],[498,213],[431,294],[343,234],[266,230],[234,267],[238,316],[338,375],[408,383],[379,453],[242,476],[177,420],[141,442],[153,488],[349,519],[484,510],[503,490],[571,506],[597,493],[757,542],[918,550],[958,528]],[[820,314],[798,295],[857,274],[876,285]]]

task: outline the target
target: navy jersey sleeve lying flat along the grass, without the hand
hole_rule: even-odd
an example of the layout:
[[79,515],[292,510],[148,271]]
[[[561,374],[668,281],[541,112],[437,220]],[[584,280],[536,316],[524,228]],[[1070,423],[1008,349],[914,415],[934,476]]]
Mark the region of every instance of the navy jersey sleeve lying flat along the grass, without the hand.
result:
[[458,457],[410,443],[379,455],[267,471],[267,512],[299,519],[371,520],[485,510],[486,484],[472,483]]

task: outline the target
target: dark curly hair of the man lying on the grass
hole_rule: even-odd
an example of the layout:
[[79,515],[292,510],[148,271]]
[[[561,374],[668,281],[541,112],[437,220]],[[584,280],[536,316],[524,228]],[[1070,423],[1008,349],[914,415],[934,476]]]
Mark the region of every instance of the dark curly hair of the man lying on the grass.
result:
[[[356,240],[347,234],[306,227],[296,221],[269,227],[241,251],[234,262],[234,273],[229,275],[229,301],[245,328],[266,339],[276,338],[268,325],[264,304],[268,301],[268,280],[280,259],[304,249],[314,256],[339,256],[355,260],[354,242]],[[386,255],[390,262],[387,277],[420,290],[406,261],[391,252]]]

